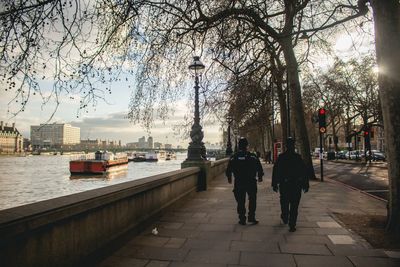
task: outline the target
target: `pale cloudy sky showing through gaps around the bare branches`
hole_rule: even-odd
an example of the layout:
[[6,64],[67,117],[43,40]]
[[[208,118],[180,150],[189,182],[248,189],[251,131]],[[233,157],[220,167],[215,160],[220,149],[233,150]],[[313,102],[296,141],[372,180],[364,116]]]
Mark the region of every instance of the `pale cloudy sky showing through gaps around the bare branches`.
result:
[[[338,34],[333,40],[333,49],[336,54],[347,56],[353,55],[355,51],[360,51],[360,45],[357,48],[353,42],[364,42],[357,35],[349,36],[346,33]],[[363,46],[361,46],[363,47]],[[325,68],[333,63],[333,58],[326,55],[314,54],[314,61],[319,67]],[[51,86],[52,81],[47,81],[47,86]],[[13,93],[4,91],[0,85],[0,120],[9,125],[15,123],[16,128],[25,138],[30,138],[30,126],[39,125],[48,122],[54,112],[54,103],[42,105],[38,96],[32,96],[26,107],[25,112],[13,116],[8,110],[8,103],[13,97]],[[166,121],[155,120],[154,126],[147,132],[140,125],[135,125],[126,118],[128,113],[131,89],[129,83],[119,82],[112,85],[112,93],[107,94],[105,102],[98,102],[95,108],[88,110],[88,113],[82,113],[77,117],[79,110],[79,96],[71,99],[69,96],[61,96],[61,104],[58,107],[54,117],[49,123],[70,123],[73,126],[81,128],[81,139],[102,139],[102,140],[121,140],[123,144],[137,142],[142,136],[152,136],[155,142],[170,143],[174,146],[180,145],[187,147],[189,139],[174,134],[174,126],[184,122],[184,116],[187,112],[188,103],[192,99],[181,99],[174,103],[175,112],[170,114]],[[187,94],[183,94],[187,95]],[[189,101],[189,102],[188,102]],[[11,108],[15,109],[15,103]],[[218,143],[222,141],[222,130],[219,123],[201,122],[204,131],[204,142]]]

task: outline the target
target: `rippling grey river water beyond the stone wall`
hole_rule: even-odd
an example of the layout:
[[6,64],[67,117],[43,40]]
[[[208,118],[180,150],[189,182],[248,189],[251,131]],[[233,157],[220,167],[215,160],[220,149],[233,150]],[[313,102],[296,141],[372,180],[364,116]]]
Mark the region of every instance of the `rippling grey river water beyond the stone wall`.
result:
[[0,210],[132,181],[181,168],[186,153],[175,160],[129,162],[127,170],[104,176],[71,176],[69,155],[0,158]]

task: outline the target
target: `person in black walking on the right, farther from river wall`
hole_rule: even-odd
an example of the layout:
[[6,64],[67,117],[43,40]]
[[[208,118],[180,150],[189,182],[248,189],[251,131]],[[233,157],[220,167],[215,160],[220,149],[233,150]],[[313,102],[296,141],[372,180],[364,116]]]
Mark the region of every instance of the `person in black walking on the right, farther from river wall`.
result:
[[295,152],[295,141],[289,137],[286,141],[287,150],[279,155],[272,170],[272,188],[280,193],[281,219],[289,223],[289,231],[296,231],[298,207],[301,190],[308,192],[309,182],[306,166],[299,154]]

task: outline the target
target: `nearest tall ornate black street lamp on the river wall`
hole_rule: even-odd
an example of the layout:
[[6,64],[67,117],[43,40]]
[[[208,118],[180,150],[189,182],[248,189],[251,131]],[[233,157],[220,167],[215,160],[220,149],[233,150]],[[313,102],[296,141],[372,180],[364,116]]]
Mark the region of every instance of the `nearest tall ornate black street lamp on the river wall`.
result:
[[190,64],[189,70],[194,75],[194,123],[190,131],[192,142],[189,143],[187,160],[205,160],[206,150],[202,142],[204,134],[200,125],[199,112],[199,77],[204,71],[204,64],[201,63],[200,57],[193,57],[193,63]]

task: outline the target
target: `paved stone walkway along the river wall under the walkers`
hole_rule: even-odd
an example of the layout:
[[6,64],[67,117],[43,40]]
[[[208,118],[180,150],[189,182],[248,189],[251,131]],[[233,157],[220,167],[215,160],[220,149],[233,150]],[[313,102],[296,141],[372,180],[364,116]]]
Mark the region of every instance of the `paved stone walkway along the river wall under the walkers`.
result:
[[220,176],[208,191],[168,210],[98,266],[400,266],[399,259],[372,249],[334,215],[386,214],[385,203],[333,181],[311,182],[301,199],[297,231],[288,232],[280,222],[279,195],[270,187],[271,166],[264,165],[258,188],[258,225],[237,223],[232,185]]

